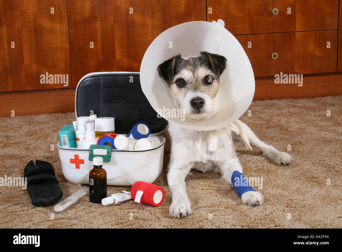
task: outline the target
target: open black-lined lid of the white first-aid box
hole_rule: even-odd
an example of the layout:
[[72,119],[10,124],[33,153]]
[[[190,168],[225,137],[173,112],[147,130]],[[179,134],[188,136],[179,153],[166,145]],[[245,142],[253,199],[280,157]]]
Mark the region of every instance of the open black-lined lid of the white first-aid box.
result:
[[76,88],[76,117],[96,114],[114,117],[115,133],[128,134],[137,122],[146,122],[151,133],[160,133],[167,120],[157,117],[140,85],[140,74],[98,72],[82,77]]

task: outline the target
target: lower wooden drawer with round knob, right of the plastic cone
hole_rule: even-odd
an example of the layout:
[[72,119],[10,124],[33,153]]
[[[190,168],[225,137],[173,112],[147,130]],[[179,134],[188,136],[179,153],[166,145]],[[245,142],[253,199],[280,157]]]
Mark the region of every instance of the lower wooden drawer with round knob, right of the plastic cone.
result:
[[[255,77],[274,76],[280,72],[308,74],[337,71],[337,30],[235,37],[247,54]],[[330,48],[327,48],[327,42],[330,42]],[[273,59],[272,53],[277,53],[278,57]]]

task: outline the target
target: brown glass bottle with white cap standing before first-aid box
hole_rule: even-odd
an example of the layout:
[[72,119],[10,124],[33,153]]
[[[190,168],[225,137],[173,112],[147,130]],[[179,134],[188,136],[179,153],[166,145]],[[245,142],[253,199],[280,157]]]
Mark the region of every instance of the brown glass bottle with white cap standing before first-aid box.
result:
[[89,172],[89,201],[101,203],[107,197],[107,172],[102,168],[102,157],[94,157],[94,168]]

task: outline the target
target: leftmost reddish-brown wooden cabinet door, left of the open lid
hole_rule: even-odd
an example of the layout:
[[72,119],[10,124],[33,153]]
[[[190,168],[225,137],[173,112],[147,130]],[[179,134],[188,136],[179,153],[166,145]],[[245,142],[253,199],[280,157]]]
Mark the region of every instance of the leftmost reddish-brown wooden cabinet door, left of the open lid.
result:
[[71,87],[66,2],[0,0],[0,9],[0,92]]

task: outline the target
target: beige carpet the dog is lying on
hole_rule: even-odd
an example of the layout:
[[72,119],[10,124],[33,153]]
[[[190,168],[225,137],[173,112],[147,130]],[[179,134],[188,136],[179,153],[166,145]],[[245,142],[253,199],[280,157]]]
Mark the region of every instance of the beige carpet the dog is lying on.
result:
[[[252,116],[246,112],[240,118],[277,149],[287,151],[291,145],[288,153],[294,161],[289,166],[276,165],[256,147],[253,151],[237,148],[244,175],[263,177],[260,192],[265,202],[261,206],[242,204],[218,173],[193,171],[186,179],[193,214],[183,219],[170,217],[169,154],[165,153],[163,172],[154,182],[166,193],[159,207],[133,201],[102,206],[84,197],[51,219],[51,207],[34,207],[27,190],[1,187],[0,228],[341,228],[341,104],[342,96],[254,101],[249,108]],[[22,177],[28,161],[40,159],[54,166],[62,200],[81,189],[64,178],[56,147],[58,130],[74,120],[74,113],[0,118],[0,177]],[[122,190],[130,188],[108,186],[107,191]]]

